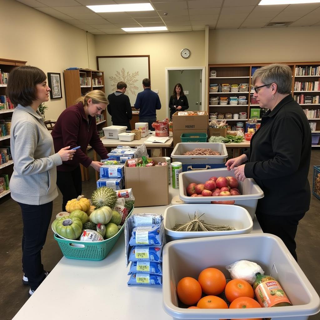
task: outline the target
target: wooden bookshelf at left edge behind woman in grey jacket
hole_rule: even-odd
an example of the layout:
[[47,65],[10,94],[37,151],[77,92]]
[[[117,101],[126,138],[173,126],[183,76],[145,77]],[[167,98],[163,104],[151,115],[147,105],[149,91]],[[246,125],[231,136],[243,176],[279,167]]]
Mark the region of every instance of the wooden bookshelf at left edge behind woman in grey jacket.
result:
[[[5,73],[9,73],[10,71],[17,67],[17,66],[25,66],[27,61],[20,61],[20,60],[11,60],[11,59],[4,59],[0,58],[0,70]],[[0,84],[0,95],[5,96],[6,95],[6,84]],[[0,120],[11,118],[13,114],[14,109],[4,109],[0,110]],[[1,136],[0,137],[0,148],[3,146],[9,146],[10,145],[10,134]],[[0,174],[8,174],[9,179],[11,178],[13,172],[13,161],[9,160],[3,164],[0,164]],[[4,192],[0,193],[0,198],[10,194],[10,190],[4,190]]]

